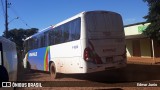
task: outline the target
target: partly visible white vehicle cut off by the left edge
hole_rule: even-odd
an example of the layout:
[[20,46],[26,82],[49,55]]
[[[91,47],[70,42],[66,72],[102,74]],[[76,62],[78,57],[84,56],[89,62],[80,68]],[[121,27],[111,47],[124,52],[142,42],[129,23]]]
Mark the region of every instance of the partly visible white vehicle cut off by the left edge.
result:
[[16,44],[0,37],[0,86],[7,81],[17,81]]

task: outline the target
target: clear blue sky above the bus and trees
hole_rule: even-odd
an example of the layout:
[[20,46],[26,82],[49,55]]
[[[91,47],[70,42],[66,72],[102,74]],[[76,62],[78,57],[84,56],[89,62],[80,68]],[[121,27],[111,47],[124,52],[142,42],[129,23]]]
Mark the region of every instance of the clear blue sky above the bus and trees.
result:
[[[0,2],[0,36],[5,30],[4,2]],[[82,11],[117,12],[121,14],[124,25],[144,22],[143,17],[148,13],[147,3],[143,0],[8,0],[8,3],[9,30],[42,30]]]

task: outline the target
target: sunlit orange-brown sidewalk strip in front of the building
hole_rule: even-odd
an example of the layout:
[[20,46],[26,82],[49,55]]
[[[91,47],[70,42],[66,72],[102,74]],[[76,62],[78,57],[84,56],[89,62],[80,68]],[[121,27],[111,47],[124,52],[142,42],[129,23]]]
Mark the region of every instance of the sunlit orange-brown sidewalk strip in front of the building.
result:
[[160,64],[160,58],[127,57],[127,63]]

